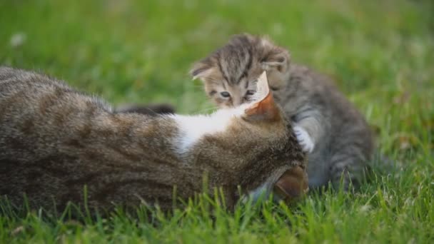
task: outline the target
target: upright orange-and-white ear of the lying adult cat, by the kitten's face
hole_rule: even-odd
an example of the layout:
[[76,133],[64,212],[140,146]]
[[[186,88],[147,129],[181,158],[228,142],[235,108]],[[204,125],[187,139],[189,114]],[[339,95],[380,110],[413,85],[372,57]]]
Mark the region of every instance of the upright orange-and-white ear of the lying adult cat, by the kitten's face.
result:
[[280,113],[268,88],[266,71],[263,71],[256,83],[254,102],[246,108],[246,116],[251,121],[276,120]]

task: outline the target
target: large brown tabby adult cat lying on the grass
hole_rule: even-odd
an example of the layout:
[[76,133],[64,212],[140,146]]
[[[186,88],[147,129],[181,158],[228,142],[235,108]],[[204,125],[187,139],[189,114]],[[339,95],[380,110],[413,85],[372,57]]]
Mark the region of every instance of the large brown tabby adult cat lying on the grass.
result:
[[[304,154],[273,102],[265,76],[258,99],[209,116],[113,113],[94,96],[38,73],[0,67],[0,196],[31,208],[173,206],[222,187],[229,207],[238,186],[290,200],[307,188]],[[175,187],[175,188],[173,188]]]

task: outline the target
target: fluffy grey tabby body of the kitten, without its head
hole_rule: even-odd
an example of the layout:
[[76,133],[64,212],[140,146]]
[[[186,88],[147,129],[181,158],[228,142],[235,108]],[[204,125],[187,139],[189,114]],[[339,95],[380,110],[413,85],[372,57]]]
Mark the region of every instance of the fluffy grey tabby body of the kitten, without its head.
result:
[[342,178],[344,189],[350,181],[357,186],[373,153],[368,124],[328,77],[298,64],[291,64],[290,73],[288,86],[274,91],[274,97],[314,143],[309,185],[331,181],[337,187]]

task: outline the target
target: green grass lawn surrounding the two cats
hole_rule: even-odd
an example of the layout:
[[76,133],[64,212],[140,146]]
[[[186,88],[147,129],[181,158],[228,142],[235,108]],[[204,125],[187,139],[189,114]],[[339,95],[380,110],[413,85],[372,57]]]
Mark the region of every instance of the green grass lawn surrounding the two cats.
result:
[[[434,4],[430,1],[0,1],[0,64],[64,78],[117,104],[211,107],[188,69],[240,32],[336,78],[394,162],[360,192],[235,213],[206,200],[152,219],[76,222],[1,205],[0,243],[433,243]],[[24,41],[11,44],[13,36]],[[1,181],[5,181],[1,179]]]

